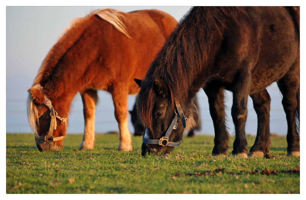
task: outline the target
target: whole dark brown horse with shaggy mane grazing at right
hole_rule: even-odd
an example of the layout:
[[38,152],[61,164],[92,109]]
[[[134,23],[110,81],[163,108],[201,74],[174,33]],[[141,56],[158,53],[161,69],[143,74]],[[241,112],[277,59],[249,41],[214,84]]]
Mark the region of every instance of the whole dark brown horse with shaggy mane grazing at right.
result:
[[[226,155],[224,90],[233,93],[233,155],[248,156],[245,122],[248,95],[258,127],[249,156],[269,152],[270,102],[266,90],[277,82],[283,99],[288,155],[300,155],[300,8],[193,7],[152,62],[141,87],[137,111],[146,125],[142,155],[169,153],[188,123],[192,99],[203,88],[215,128],[212,155]],[[176,122],[177,121],[177,122]],[[178,127],[172,130],[174,124]],[[171,132],[172,131],[172,132]]]

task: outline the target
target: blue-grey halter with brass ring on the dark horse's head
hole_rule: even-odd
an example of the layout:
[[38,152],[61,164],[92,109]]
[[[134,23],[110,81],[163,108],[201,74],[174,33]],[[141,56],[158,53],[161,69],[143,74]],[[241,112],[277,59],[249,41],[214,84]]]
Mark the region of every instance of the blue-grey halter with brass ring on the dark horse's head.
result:
[[[179,115],[179,117],[181,117],[183,127],[186,128],[186,123],[188,121],[188,118],[185,118],[185,115],[183,113],[181,105],[178,103],[178,101],[175,100],[174,102],[175,102],[175,105],[176,105],[176,108],[177,108],[178,115]],[[158,144],[158,145],[161,145],[161,146],[179,146],[181,144],[182,140],[179,143],[168,141],[172,130],[177,129],[177,126],[178,126],[177,125],[178,116],[177,116],[177,113],[176,113],[175,110],[174,110],[174,113],[175,113],[174,118],[173,118],[165,136],[163,136],[160,139],[147,139],[147,138],[144,138],[144,136],[143,136],[142,137],[142,142],[147,143],[147,144]],[[146,131],[146,129],[147,129],[147,127],[145,127],[144,132]],[[163,141],[166,141],[165,145],[162,143]]]

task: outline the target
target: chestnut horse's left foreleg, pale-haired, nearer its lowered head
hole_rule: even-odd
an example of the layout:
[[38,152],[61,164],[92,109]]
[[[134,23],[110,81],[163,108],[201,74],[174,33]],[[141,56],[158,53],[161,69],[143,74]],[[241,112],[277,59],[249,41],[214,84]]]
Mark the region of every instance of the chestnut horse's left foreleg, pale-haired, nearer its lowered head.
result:
[[84,114],[84,135],[80,150],[93,149],[95,145],[95,106],[98,102],[97,91],[86,90],[81,94]]

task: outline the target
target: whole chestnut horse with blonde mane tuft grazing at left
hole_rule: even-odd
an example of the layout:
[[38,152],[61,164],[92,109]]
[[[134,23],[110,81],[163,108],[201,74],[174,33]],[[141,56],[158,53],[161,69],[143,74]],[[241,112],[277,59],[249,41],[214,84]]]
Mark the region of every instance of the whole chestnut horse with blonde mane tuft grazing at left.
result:
[[101,9],[74,20],[43,60],[28,90],[28,120],[37,148],[63,146],[70,105],[80,92],[85,121],[80,149],[93,149],[97,90],[105,90],[114,102],[117,148],[132,151],[127,99],[139,91],[133,79],[144,77],[176,25],[172,16],[159,10]]

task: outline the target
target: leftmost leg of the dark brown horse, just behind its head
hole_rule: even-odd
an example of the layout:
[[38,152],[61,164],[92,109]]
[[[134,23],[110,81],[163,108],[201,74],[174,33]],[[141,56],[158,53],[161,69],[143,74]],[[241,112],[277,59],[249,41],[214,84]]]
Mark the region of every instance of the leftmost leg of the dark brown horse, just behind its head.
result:
[[212,155],[226,155],[230,135],[225,124],[224,88],[216,87],[215,83],[211,83],[203,89],[208,97],[209,111],[215,129],[215,146]]

